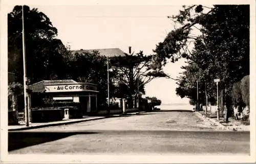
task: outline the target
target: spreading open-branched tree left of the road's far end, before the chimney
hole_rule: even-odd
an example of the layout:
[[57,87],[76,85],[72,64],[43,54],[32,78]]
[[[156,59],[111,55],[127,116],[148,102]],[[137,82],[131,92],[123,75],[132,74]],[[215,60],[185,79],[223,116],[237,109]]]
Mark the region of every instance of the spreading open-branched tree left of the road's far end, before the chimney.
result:
[[[156,66],[155,56],[143,54],[143,51],[132,54],[124,54],[124,57],[117,57],[110,60],[114,79],[119,82],[119,93],[130,100],[136,95],[145,94],[144,86],[158,77],[169,77]],[[138,92],[139,88],[139,92]]]

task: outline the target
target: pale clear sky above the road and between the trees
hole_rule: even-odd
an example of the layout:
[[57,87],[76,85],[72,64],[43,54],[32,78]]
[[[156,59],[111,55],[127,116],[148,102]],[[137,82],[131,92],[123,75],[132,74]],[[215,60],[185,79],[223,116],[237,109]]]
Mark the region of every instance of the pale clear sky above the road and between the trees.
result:
[[[152,54],[156,44],[173,30],[167,16],[178,14],[179,6],[31,6],[45,13],[58,30],[58,39],[76,49],[120,48]],[[10,11],[12,11],[10,6]],[[176,78],[184,60],[168,63],[165,73]],[[157,78],[145,86],[146,96],[166,103],[188,103],[176,95],[176,81]]]

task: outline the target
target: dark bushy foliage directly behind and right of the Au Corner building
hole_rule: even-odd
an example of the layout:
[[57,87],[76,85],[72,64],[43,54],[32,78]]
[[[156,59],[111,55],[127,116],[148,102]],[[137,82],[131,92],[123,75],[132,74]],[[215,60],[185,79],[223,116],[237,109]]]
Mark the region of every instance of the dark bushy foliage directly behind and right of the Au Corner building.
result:
[[[98,103],[106,105],[108,96],[108,69],[106,57],[100,56],[98,51],[75,52],[70,51],[67,61],[69,78],[81,83],[93,83],[98,86]],[[114,74],[110,72],[110,79]],[[110,96],[114,94],[114,86],[110,81]]]

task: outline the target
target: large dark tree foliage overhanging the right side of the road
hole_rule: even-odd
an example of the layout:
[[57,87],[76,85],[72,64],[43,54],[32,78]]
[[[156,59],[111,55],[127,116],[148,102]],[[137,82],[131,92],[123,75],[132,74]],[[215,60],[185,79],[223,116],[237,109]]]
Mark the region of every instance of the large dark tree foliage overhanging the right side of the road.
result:
[[[175,22],[175,30],[156,46],[155,52],[162,64],[167,59],[187,59],[176,93],[195,101],[197,79],[199,91],[214,98],[214,79],[220,78],[219,89],[225,91],[227,105],[233,84],[249,74],[249,6],[183,6],[178,15],[168,18]],[[199,35],[194,35],[195,31]],[[205,99],[205,93],[199,93],[199,98]]]

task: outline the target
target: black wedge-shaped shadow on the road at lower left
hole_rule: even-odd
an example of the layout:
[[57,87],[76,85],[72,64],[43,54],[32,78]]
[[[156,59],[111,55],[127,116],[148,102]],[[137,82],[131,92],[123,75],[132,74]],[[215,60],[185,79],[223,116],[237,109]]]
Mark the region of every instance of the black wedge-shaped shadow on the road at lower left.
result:
[[95,134],[98,132],[8,132],[8,151],[56,141],[77,134]]

